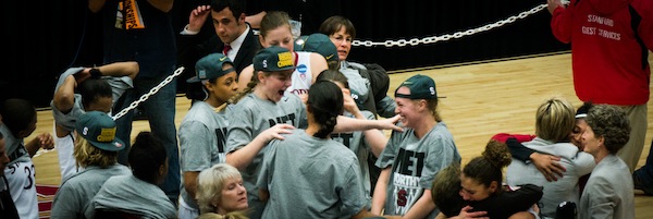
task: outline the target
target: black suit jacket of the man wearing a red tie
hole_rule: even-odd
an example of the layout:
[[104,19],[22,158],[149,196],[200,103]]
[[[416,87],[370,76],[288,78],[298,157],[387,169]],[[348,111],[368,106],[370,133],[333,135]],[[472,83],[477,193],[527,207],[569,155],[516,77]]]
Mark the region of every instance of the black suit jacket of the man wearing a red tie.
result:
[[[249,24],[248,24],[249,25]],[[180,75],[177,83],[177,90],[186,90],[186,80],[195,76],[195,63],[202,57],[213,53],[222,52],[224,42],[215,34],[207,39],[202,35],[181,35],[177,36],[177,65],[184,66],[184,73]],[[236,53],[236,58],[232,60],[234,62],[234,69],[236,73],[241,74],[241,71],[251,64],[254,56],[261,48],[258,40],[258,36],[254,34],[254,31],[249,28],[243,45]]]

